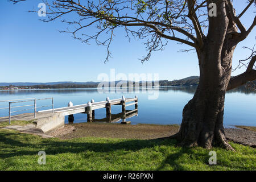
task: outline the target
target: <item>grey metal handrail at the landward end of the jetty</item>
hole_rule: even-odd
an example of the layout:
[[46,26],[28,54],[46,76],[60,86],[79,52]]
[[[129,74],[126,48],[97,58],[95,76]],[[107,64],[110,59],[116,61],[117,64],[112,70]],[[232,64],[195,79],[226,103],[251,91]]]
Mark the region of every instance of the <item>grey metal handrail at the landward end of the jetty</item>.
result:
[[[52,104],[36,107],[36,101],[41,101],[41,100],[52,100]],[[32,101],[34,101],[33,105],[24,105],[24,106],[13,106],[13,107],[11,107],[11,104],[22,103],[22,102],[32,102]],[[6,100],[6,101],[0,101],[0,102],[9,102],[9,107],[0,108],[0,110],[1,109],[9,109],[9,124],[11,124],[11,113],[17,113],[17,112],[20,112],[20,111],[33,110],[34,109],[34,118],[36,118],[36,109],[39,109],[39,108],[42,108],[42,107],[48,107],[48,106],[52,106],[52,112],[54,113],[53,97],[51,97],[51,98],[40,98],[40,99],[26,98],[26,99],[18,99],[18,100]],[[11,111],[12,108],[28,107],[28,106],[34,106],[34,107],[31,108],[31,109]]]

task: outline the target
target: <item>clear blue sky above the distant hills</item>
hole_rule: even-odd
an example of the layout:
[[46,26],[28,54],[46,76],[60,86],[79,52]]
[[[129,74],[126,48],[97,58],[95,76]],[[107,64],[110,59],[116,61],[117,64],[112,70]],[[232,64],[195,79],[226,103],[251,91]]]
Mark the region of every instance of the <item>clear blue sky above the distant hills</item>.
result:
[[[28,0],[13,5],[7,0],[0,2],[0,82],[52,82],[52,81],[97,81],[100,73],[110,75],[110,69],[116,73],[159,73],[160,80],[174,80],[199,75],[196,53],[179,53],[180,49],[189,48],[169,41],[164,51],[154,52],[150,61],[141,64],[138,58],[146,55],[141,40],[130,43],[123,36],[122,30],[115,32],[110,50],[113,58],[104,64],[106,47],[82,44],[70,34],[60,34],[67,24],[42,22],[36,13],[39,0]],[[237,13],[246,5],[246,0],[234,0]],[[242,18],[246,28],[253,21],[255,7]],[[243,46],[253,47],[256,28],[249,38],[238,44],[234,53],[233,66],[238,60],[249,56]],[[96,29],[89,28],[87,32]],[[238,75],[244,69],[233,72]]]

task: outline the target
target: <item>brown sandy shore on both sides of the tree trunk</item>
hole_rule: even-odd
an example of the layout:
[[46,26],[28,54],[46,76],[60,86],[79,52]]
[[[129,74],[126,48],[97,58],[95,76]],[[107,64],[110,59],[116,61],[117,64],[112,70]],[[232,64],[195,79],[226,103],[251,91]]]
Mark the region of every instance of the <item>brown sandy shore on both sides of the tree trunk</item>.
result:
[[[61,139],[79,137],[155,139],[170,137],[179,131],[178,125],[121,125],[120,123],[75,123],[55,130],[50,135]],[[256,147],[256,131],[225,129],[228,140]]]

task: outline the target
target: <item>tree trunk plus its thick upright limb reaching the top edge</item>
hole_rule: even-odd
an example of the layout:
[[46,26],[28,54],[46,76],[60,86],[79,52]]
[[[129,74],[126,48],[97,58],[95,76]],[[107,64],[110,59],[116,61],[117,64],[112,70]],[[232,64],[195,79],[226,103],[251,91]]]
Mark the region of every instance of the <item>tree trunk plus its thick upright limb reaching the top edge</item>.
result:
[[237,28],[225,1],[218,4],[217,17],[209,19],[208,36],[197,50],[200,80],[192,100],[183,109],[179,133],[172,136],[181,146],[221,146],[234,150],[225,138],[223,115],[225,93],[232,71]]

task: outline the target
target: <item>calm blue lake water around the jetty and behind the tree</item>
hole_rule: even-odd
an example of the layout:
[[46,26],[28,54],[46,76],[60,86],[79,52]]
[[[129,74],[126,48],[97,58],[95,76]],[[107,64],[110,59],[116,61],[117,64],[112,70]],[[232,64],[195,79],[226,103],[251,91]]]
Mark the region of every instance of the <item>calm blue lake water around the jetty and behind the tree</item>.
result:
[[[95,102],[105,101],[106,97],[111,99],[126,98],[138,96],[138,115],[127,119],[132,124],[152,123],[161,125],[180,124],[182,119],[182,110],[185,104],[193,97],[196,87],[163,87],[159,89],[129,89],[114,90],[97,88],[88,89],[48,89],[48,90],[1,90],[0,101],[15,100],[23,98],[54,98],[54,106],[65,107],[69,101],[73,105],[86,104],[92,98]],[[231,91],[226,93],[224,126],[232,127],[233,125],[256,126],[256,92],[245,92],[244,90]],[[149,99],[151,98],[151,100]],[[156,98],[152,100],[152,98]],[[25,102],[26,105],[33,104]],[[38,101],[37,106],[49,105],[50,100]],[[16,104],[14,106],[18,106]],[[23,103],[24,105],[24,103]],[[0,107],[9,107],[8,102],[0,102]],[[27,108],[31,108],[27,107]],[[22,108],[26,109],[26,107]],[[43,109],[51,109],[44,107]],[[127,107],[129,110],[134,109],[134,105]],[[15,109],[14,109],[15,110]],[[16,110],[20,110],[17,108]],[[39,109],[40,110],[40,109]],[[42,109],[41,109],[42,110]],[[8,109],[0,110],[0,117],[8,115]],[[30,110],[32,113],[33,110]],[[112,106],[112,114],[121,113],[120,105]],[[28,112],[28,111],[23,111]],[[22,113],[19,112],[19,113]],[[16,114],[19,114],[16,113]],[[86,122],[86,114],[75,114],[76,122]],[[97,109],[95,118],[106,118],[106,109]],[[120,121],[119,121],[120,122]],[[68,123],[68,117],[65,117],[65,123]]]

